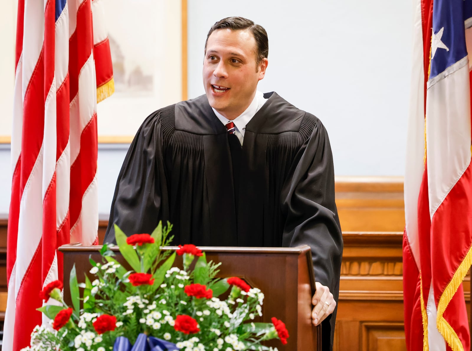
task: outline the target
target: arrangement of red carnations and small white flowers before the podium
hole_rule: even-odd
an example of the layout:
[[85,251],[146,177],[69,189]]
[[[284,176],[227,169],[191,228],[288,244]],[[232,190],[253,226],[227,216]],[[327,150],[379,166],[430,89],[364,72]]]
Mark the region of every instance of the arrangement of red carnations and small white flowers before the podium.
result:
[[[132,344],[133,350],[272,351],[277,349],[262,342],[278,338],[286,344],[282,321],[253,321],[262,316],[264,294],[259,289],[237,277],[216,278],[220,263],[207,262],[194,245],[179,246],[175,252],[161,249],[172,240],[171,228],[159,223],[151,235],[126,237],[115,225],[119,251],[131,270],[120,265],[105,244],[101,263],[90,258],[94,280],[86,275],[79,284],[75,266],[72,269],[72,307],[63,300],[60,281],[48,284],[42,298],[57,303],[38,310],[51,325],[36,326],[31,346],[23,351],[129,351]],[[173,266],[176,255],[183,256],[184,269]]]

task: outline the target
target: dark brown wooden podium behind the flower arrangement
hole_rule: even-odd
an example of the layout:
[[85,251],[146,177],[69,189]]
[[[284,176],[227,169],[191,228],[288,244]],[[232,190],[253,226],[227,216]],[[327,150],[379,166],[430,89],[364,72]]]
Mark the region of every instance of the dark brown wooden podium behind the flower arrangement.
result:
[[[218,277],[243,278],[252,287],[264,293],[262,322],[277,317],[285,322],[290,337],[287,345],[275,340],[268,343],[279,350],[321,350],[321,326],[312,325],[312,296],[315,291],[312,255],[310,248],[216,248],[199,247],[205,251],[207,260],[221,262]],[[69,281],[72,266],[76,265],[77,279],[84,281],[84,273],[91,268],[89,256],[101,261],[101,246],[64,245],[64,282]],[[168,249],[176,249],[169,247]],[[113,248],[118,262],[124,259]],[[182,257],[177,256],[174,265],[182,267]],[[70,304],[68,284],[64,284],[64,297]]]

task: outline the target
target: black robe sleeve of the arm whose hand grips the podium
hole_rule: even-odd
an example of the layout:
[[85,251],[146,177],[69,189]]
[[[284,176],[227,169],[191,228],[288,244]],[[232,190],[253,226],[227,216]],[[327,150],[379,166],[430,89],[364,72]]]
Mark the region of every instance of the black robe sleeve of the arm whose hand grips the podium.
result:
[[[283,246],[311,247],[315,280],[329,287],[337,301],[343,239],[335,204],[328,133],[316,118],[311,136],[296,154],[281,200],[287,218]],[[323,350],[332,348],[336,311],[322,323]]]

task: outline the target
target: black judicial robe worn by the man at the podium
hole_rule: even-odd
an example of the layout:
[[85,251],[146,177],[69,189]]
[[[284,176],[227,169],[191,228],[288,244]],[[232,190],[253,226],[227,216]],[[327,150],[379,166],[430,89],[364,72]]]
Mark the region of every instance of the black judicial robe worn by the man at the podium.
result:
[[[235,170],[226,127],[205,95],[147,117],[119,173],[105,242],[115,240],[113,223],[131,235],[169,220],[174,245],[308,244],[316,280],[337,301],[343,242],[328,134],[277,93],[264,97]],[[336,310],[322,323],[323,350],[332,348],[335,318]]]

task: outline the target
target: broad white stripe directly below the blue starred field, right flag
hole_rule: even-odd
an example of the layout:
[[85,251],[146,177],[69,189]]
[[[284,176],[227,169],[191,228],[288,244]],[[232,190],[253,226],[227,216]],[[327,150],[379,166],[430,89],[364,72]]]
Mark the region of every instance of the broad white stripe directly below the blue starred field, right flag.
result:
[[467,57],[428,82],[426,152],[430,218],[471,161],[469,85]]

